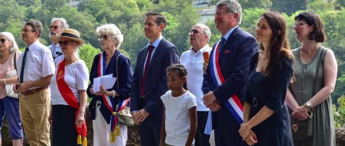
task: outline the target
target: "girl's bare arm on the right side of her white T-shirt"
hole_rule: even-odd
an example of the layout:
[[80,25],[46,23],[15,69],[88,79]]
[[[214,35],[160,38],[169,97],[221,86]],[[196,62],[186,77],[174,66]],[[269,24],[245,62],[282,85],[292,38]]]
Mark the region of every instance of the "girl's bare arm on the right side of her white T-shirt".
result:
[[197,128],[197,115],[196,115],[196,107],[191,107],[189,110],[190,113],[190,133],[188,135],[186,146],[191,146],[193,143],[193,139],[195,137],[196,128]]

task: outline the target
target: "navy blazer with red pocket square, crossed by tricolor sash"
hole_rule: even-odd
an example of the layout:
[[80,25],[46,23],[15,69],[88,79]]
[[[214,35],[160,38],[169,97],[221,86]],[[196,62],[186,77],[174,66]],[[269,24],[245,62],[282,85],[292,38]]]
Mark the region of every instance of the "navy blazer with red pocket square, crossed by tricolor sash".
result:
[[[213,50],[216,44],[213,46]],[[219,65],[225,82],[218,88],[215,88],[208,65],[207,72],[204,74],[202,90],[204,94],[208,91],[213,91],[222,106],[219,111],[212,112],[213,129],[230,128],[238,133],[240,124],[228,111],[224,103],[234,94],[242,100],[249,75],[250,57],[256,51],[258,51],[258,44],[255,38],[241,30],[240,27],[237,27],[226,40],[224,48],[219,55]],[[213,53],[212,51],[211,55]],[[215,116],[218,118],[215,119]]]

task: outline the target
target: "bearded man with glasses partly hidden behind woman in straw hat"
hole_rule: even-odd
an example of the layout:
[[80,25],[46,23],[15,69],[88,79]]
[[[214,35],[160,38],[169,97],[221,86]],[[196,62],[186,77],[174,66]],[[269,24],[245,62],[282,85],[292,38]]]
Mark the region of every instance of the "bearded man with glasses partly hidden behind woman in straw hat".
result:
[[[62,31],[66,28],[69,28],[69,25],[64,18],[52,18],[52,24],[49,26],[51,31],[49,37],[52,38],[54,36],[61,36]],[[59,43],[52,42],[48,48],[52,52],[54,64],[57,64],[64,59],[64,54],[61,51]]]

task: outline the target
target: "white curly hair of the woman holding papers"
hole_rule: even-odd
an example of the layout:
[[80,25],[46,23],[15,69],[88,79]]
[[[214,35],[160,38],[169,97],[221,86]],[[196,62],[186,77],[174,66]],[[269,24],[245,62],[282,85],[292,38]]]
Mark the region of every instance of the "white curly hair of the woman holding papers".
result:
[[115,24],[103,24],[96,29],[97,35],[100,36],[101,34],[109,35],[113,38],[116,42],[116,49],[120,48],[121,43],[123,41],[123,35],[121,34],[120,29]]

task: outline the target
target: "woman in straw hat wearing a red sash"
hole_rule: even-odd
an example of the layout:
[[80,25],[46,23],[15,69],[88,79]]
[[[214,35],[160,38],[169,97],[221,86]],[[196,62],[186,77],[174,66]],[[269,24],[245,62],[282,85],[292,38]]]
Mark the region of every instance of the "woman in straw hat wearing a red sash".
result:
[[79,32],[64,29],[61,36],[52,37],[60,44],[65,55],[63,61],[56,65],[52,76],[52,143],[55,146],[87,146],[86,144],[86,89],[88,70],[78,56],[83,45]]

